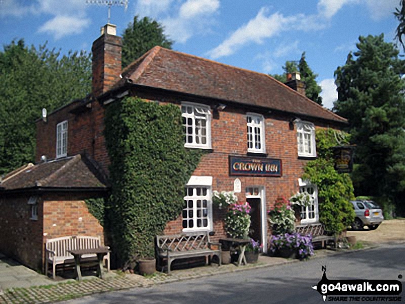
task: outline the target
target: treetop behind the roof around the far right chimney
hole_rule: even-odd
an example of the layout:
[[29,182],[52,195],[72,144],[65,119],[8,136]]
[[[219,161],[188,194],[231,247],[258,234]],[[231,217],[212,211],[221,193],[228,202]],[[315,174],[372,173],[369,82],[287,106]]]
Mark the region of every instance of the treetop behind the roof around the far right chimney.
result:
[[310,100],[319,103],[322,105],[322,97],[319,95],[322,92],[322,88],[317,84],[316,78],[317,74],[310,69],[308,63],[305,59],[305,52],[302,53],[301,59],[299,61],[286,61],[286,65],[283,66],[284,73],[283,74],[273,74],[270,75],[271,77],[281,81],[282,83],[286,82],[287,74],[293,72],[299,72],[301,74],[301,79],[304,81],[306,88],[305,88],[305,95]]

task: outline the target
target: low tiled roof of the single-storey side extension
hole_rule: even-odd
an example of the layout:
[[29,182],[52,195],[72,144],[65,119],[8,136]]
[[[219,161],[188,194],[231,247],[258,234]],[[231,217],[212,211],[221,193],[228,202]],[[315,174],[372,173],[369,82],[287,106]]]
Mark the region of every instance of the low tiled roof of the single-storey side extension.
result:
[[5,176],[0,188],[107,188],[95,168],[81,155],[27,165]]

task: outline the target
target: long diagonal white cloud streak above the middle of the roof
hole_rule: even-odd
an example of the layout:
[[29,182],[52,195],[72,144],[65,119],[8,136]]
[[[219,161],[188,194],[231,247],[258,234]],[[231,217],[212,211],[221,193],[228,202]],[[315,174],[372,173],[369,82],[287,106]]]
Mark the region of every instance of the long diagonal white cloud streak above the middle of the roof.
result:
[[295,21],[295,17],[284,17],[276,12],[266,16],[268,8],[261,8],[257,16],[244,26],[237,29],[228,39],[217,48],[210,50],[208,56],[217,59],[219,57],[234,54],[239,48],[248,43],[263,43],[265,38],[273,37],[288,28],[289,23]]

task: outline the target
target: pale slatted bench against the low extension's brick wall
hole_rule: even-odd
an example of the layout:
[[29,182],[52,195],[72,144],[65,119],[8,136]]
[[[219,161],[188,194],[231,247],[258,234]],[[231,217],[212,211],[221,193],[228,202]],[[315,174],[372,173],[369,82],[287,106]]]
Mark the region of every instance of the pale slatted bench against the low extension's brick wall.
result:
[[[45,245],[45,274],[48,276],[49,264],[52,264],[52,278],[55,279],[56,267],[61,264],[75,264],[69,250],[91,250],[102,247],[99,236],[63,236],[47,239]],[[82,261],[97,261],[97,254],[83,254]],[[110,253],[104,256],[107,270],[110,271]]]

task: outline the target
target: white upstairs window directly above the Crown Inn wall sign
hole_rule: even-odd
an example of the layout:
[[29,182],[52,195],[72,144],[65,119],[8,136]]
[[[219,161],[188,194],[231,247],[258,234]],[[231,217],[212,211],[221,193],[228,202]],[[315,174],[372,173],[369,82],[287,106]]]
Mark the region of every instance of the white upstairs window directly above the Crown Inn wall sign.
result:
[[[250,118],[250,122],[249,122]],[[255,120],[259,120],[257,123]],[[248,152],[250,153],[266,153],[266,140],[265,140],[265,130],[264,130],[264,116],[255,113],[246,113],[246,123],[247,123],[247,144]],[[251,132],[249,132],[251,128]],[[256,130],[259,130],[259,135],[257,135]],[[251,133],[251,134],[250,134]],[[251,136],[251,141],[249,137]],[[257,141],[257,139],[259,139]],[[249,143],[252,143],[252,148],[249,148]],[[259,148],[257,146],[259,145]]]

